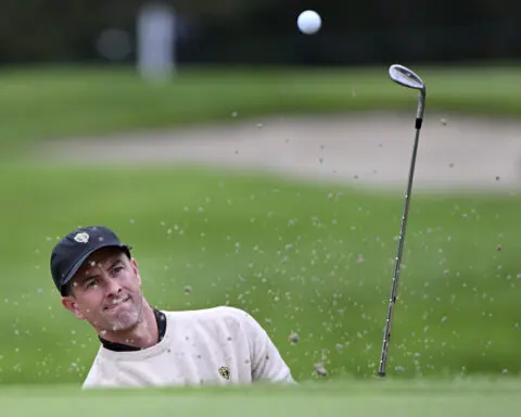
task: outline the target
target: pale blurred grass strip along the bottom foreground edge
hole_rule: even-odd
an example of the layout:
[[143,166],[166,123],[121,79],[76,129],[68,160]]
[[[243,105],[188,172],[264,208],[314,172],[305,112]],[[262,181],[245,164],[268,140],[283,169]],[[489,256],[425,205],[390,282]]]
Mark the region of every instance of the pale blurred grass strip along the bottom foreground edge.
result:
[[80,392],[71,387],[11,388],[0,391],[9,416],[91,416],[110,410],[127,417],[145,414],[190,416],[356,415],[389,417],[484,417],[516,415],[519,380],[347,381],[297,388],[247,387],[145,389]]

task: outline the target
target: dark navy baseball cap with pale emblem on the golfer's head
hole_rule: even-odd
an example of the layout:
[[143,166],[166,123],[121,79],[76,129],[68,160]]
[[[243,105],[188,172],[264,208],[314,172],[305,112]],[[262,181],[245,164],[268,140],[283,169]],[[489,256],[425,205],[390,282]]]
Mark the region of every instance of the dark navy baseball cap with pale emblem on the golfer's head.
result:
[[62,295],[84,262],[102,248],[120,248],[130,256],[131,247],[123,244],[114,231],[104,226],[80,227],[66,235],[51,253],[51,274],[54,285]]

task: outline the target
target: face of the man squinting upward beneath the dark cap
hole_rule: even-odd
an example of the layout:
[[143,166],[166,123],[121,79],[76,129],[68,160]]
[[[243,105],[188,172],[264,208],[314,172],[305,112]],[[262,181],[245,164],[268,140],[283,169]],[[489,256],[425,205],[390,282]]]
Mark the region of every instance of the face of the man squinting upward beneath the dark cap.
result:
[[127,331],[143,308],[141,278],[136,261],[117,248],[94,252],[76,273],[62,304],[98,332]]

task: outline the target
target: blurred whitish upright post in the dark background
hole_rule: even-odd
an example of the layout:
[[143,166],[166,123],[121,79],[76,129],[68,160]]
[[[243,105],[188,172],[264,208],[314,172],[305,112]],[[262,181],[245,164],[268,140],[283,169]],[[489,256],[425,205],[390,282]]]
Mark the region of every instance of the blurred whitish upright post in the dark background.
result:
[[141,7],[137,22],[137,66],[145,80],[164,81],[176,72],[175,13],[167,4]]

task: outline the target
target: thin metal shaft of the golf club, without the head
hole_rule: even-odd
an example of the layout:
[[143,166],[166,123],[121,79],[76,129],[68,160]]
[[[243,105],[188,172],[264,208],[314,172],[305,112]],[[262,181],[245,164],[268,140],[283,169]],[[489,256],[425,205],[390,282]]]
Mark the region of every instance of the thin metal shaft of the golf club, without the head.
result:
[[[423,111],[423,102],[420,101],[418,104],[420,110],[418,111],[418,116],[422,115]],[[385,320],[385,330],[383,332],[383,344],[382,344],[382,353],[380,356],[380,365],[378,369],[378,375],[381,377],[385,376],[385,368],[387,365],[387,352],[389,352],[389,343],[391,340],[391,328],[393,324],[393,317],[394,317],[394,307],[396,304],[396,295],[398,291],[398,279],[399,279],[399,270],[402,266],[402,255],[404,252],[404,242],[405,242],[405,233],[407,230],[407,217],[409,213],[409,203],[410,203],[410,195],[412,192],[412,180],[415,177],[415,167],[416,167],[416,155],[418,152],[418,142],[420,138],[420,129],[421,129],[421,124],[422,124],[422,118],[417,117],[416,119],[416,137],[415,137],[415,144],[412,148],[412,156],[410,161],[410,167],[409,167],[409,178],[407,181],[407,190],[405,193],[405,202],[404,202],[404,212],[402,215],[402,227],[399,231],[399,238],[398,238],[398,248],[396,251],[396,260],[395,260],[395,265],[394,265],[394,275],[393,275],[393,286],[391,288],[391,296],[389,299],[389,308],[387,308],[387,316]]]

